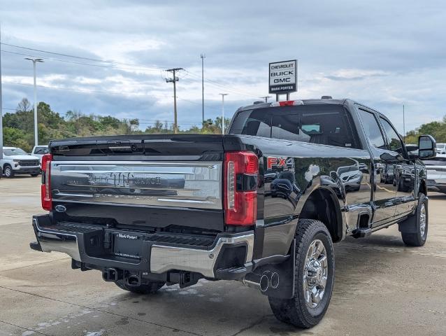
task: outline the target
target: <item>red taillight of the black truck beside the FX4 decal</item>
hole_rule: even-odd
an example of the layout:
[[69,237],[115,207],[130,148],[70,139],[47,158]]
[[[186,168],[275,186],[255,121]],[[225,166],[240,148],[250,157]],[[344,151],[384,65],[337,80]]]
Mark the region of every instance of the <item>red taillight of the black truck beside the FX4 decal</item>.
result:
[[253,225],[257,220],[259,159],[252,152],[224,155],[224,223]]

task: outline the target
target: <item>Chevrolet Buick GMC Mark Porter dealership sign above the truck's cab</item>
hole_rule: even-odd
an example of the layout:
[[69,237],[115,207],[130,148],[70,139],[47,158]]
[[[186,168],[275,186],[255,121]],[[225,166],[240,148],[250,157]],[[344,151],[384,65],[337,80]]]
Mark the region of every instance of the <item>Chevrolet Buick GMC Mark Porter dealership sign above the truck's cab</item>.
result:
[[297,60],[269,64],[269,93],[297,91]]

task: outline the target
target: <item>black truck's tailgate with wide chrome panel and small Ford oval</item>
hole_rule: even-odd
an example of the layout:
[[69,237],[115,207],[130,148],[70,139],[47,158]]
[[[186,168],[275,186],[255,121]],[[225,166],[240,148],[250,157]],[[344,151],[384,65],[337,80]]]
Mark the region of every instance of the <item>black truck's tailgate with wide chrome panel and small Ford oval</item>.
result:
[[82,217],[82,223],[88,217],[92,223],[223,231],[223,142],[222,136],[192,134],[52,141],[53,213]]

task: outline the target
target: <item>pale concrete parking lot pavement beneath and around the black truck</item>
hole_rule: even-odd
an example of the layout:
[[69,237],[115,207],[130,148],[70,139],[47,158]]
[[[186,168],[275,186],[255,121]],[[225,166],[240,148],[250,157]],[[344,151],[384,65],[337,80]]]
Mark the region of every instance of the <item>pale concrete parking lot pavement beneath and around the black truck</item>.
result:
[[279,323],[267,297],[238,282],[200,281],[138,296],[29,249],[40,177],[0,180],[0,335],[446,335],[446,195],[429,195],[429,239],[403,245],[397,226],[336,245],[322,323]]

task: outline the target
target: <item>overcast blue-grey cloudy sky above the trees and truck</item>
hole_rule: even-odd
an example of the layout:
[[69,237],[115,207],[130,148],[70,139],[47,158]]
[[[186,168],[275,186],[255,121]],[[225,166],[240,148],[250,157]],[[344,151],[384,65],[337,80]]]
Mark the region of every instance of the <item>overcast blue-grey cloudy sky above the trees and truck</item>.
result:
[[[143,4],[144,3],[144,4]],[[292,99],[349,97],[403,131],[446,114],[446,3],[431,1],[6,1],[0,0],[3,113],[23,97],[52,109],[201,123],[201,52],[206,118],[268,95],[268,62],[298,59]],[[11,53],[16,52],[16,53]],[[91,59],[113,62],[100,63]],[[64,61],[64,62],[61,62]],[[84,63],[84,64],[78,64]],[[87,65],[88,64],[88,65]],[[133,64],[133,65],[125,65]]]

